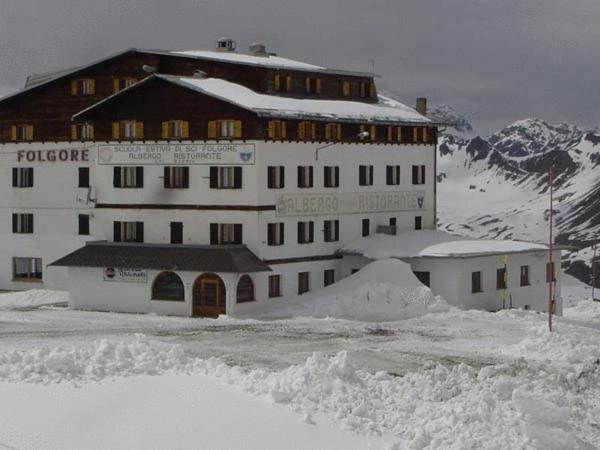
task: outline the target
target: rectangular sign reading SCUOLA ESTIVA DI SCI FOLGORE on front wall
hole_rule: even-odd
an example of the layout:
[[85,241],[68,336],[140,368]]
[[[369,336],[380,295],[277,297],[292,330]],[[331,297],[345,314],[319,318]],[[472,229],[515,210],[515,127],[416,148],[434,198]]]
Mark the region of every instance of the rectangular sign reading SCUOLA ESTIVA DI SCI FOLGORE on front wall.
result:
[[105,165],[254,164],[254,144],[114,144],[98,146]]

